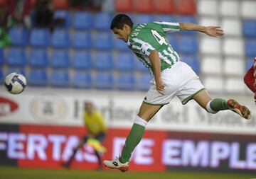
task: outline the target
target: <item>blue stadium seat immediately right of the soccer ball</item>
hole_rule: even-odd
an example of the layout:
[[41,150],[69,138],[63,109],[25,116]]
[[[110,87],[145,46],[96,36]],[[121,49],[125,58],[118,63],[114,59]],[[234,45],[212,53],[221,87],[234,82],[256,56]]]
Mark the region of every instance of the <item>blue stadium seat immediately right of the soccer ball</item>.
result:
[[47,86],[47,69],[31,69],[28,74],[28,84],[31,86]]

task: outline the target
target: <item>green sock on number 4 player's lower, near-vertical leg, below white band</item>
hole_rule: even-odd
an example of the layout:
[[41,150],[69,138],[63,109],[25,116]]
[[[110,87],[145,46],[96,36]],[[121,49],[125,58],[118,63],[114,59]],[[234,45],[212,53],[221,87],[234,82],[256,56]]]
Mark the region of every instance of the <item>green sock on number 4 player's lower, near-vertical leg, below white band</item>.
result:
[[131,158],[132,156],[132,151],[134,151],[135,147],[142,139],[144,129],[145,127],[142,125],[137,125],[136,123],[132,125],[132,129],[127,136],[124,148],[122,149],[122,154],[119,157],[119,161],[121,163],[126,163],[127,161],[129,161],[129,158]]

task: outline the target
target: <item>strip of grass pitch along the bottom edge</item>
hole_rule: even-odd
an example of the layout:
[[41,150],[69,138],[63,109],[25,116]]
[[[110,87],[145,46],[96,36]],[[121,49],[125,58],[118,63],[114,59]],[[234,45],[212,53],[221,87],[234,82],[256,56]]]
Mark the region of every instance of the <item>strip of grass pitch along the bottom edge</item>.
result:
[[246,173],[78,171],[38,168],[0,168],[0,179],[250,179]]

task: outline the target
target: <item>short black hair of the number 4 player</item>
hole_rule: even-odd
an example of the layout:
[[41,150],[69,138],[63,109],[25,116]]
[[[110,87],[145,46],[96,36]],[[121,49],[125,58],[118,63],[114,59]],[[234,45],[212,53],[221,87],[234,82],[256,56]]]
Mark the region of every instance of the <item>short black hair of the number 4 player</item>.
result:
[[130,28],[132,28],[134,25],[132,19],[129,16],[127,16],[126,14],[119,13],[112,19],[110,29],[122,29],[124,24],[129,25]]

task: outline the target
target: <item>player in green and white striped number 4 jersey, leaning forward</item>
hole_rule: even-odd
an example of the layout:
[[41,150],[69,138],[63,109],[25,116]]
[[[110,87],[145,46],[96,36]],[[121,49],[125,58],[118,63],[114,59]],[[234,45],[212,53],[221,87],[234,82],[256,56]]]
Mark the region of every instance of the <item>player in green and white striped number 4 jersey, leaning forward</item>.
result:
[[118,14],[112,19],[110,29],[117,39],[127,43],[154,78],[134,119],[121,156],[114,161],[103,161],[105,166],[120,171],[129,170],[129,158],[141,141],[147,122],[174,96],[183,105],[193,99],[207,112],[215,114],[220,110],[232,110],[245,119],[250,119],[250,110],[237,101],[210,98],[196,73],[188,64],[180,61],[177,52],[166,39],[166,33],[180,30],[196,30],[211,37],[219,37],[224,35],[220,27],[161,21],[134,25],[129,16]]

